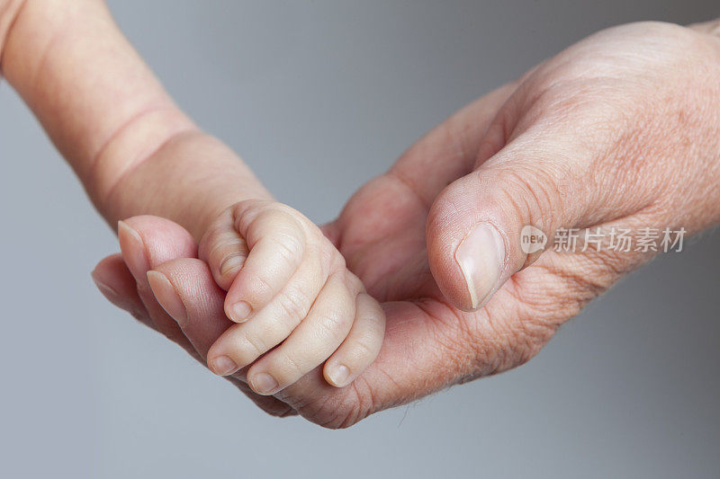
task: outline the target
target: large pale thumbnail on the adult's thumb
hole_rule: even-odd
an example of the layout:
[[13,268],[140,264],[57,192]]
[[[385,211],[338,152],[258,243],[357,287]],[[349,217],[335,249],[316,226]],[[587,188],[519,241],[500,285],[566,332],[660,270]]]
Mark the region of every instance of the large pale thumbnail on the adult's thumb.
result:
[[505,264],[505,242],[490,223],[478,223],[455,251],[473,309],[482,306],[496,288]]

